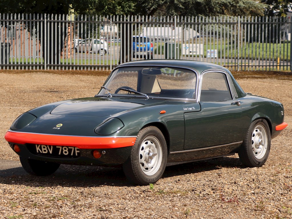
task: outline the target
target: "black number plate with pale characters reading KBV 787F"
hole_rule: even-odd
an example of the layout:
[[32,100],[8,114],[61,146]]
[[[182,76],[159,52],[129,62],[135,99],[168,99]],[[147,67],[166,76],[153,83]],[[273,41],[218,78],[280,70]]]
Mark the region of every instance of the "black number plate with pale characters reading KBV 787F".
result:
[[34,145],[35,154],[48,157],[76,158],[80,156],[78,147],[55,146],[55,145]]

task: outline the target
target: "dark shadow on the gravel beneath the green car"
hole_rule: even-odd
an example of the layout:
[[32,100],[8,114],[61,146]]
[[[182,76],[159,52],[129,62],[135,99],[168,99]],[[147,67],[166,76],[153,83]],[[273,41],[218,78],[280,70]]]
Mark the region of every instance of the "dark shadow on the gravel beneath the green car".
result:
[[[197,161],[168,166],[162,178],[234,167],[244,168],[238,158]],[[73,165],[61,165],[54,174],[46,177],[29,175],[22,167],[0,170],[0,183],[29,187],[134,186],[128,182],[122,168]]]

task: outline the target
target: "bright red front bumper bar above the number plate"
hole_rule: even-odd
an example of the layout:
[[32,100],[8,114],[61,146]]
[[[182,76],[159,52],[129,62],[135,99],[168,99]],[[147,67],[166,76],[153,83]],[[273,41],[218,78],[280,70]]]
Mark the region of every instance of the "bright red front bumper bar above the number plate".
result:
[[80,149],[118,148],[135,144],[135,137],[86,137],[69,135],[46,135],[8,131],[5,135],[8,142],[17,144],[38,144],[73,146]]

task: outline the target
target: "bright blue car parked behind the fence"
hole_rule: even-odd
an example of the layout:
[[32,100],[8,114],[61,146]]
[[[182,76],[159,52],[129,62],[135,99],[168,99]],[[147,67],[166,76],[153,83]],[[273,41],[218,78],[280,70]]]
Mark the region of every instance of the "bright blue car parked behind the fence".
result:
[[146,36],[133,36],[133,57],[153,59],[153,44]]

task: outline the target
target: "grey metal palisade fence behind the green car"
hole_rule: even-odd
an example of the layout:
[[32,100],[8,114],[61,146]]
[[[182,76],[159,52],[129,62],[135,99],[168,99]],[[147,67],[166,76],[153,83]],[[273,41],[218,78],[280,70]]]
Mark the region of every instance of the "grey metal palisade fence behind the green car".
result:
[[290,17],[0,14],[0,69],[111,70],[138,59],[291,70]]

